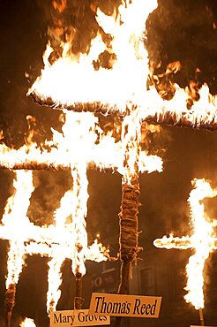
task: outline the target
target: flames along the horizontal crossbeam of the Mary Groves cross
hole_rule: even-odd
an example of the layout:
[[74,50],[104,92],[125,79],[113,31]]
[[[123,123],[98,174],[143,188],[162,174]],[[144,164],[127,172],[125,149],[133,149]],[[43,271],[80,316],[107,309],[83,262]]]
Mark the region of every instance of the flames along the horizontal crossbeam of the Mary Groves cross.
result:
[[[78,123],[77,128],[71,128],[73,121],[76,121],[76,119],[82,121],[82,124],[79,125]],[[87,124],[89,124],[89,127]],[[78,130],[79,136],[77,136]],[[122,141],[116,141],[116,138],[110,133],[104,133],[101,130],[98,118],[94,117],[93,113],[66,111],[62,133],[54,129],[52,129],[52,132],[53,139],[45,141],[44,144],[41,143],[40,146],[34,141],[18,149],[9,148],[4,143],[0,144],[0,166],[11,170],[74,169],[78,164],[80,148],[83,146],[86,153],[87,168],[94,166],[100,170],[111,169],[121,174],[123,173],[125,145]],[[152,133],[154,132],[155,130]],[[85,133],[86,136],[82,136]],[[85,143],[85,140],[88,144]],[[87,149],[88,153],[86,152]],[[162,160],[159,156],[147,155],[146,150],[140,149],[138,153],[138,169],[141,172],[147,171],[148,173],[162,171]]]

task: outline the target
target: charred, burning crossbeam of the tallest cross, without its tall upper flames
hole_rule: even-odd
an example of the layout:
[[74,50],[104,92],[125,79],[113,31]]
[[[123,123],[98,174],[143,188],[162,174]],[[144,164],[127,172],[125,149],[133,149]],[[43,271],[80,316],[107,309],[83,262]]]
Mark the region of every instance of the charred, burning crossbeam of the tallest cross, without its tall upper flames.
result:
[[[125,108],[118,109],[115,105],[101,103],[97,100],[93,103],[56,103],[52,100],[40,100],[40,96],[35,91],[29,93],[34,102],[51,106],[57,110],[71,110],[75,112],[88,111],[101,113],[102,115],[113,115],[124,117],[127,115],[128,106],[131,106],[131,100],[125,103]],[[178,127],[191,127],[196,129],[207,129],[209,131],[217,130],[217,100],[216,95],[209,93],[209,88],[203,85],[199,90],[199,99],[194,101],[188,93],[176,86],[176,93],[170,100],[163,100],[154,87],[144,90],[142,101],[135,102],[139,108],[141,120],[150,124],[174,125]]]

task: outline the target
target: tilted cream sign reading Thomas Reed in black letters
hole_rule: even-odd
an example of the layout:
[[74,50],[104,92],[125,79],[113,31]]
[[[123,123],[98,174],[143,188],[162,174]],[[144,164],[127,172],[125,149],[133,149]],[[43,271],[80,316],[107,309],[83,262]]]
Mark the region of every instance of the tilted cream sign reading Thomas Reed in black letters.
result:
[[89,315],[158,318],[161,297],[93,293]]

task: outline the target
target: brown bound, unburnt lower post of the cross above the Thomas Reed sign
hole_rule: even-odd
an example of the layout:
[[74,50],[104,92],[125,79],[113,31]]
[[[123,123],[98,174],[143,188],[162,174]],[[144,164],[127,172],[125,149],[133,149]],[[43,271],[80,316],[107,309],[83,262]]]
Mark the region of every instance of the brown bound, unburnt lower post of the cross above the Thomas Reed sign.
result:
[[[119,294],[129,293],[131,262],[136,259],[138,248],[138,174],[131,178],[131,185],[123,184],[122,205],[119,213],[121,272]],[[122,326],[123,318],[116,317],[115,327]]]

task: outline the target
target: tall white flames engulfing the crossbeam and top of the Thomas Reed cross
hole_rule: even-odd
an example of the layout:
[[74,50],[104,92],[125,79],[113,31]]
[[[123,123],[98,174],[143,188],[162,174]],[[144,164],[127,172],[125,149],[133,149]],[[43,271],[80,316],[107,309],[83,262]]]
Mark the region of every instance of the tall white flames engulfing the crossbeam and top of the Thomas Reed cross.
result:
[[[113,16],[98,9],[96,20],[103,31],[111,35],[109,45],[99,34],[92,40],[88,53],[75,56],[70,50],[72,41],[63,43],[62,57],[51,65],[49,57],[54,49],[48,44],[41,76],[27,95],[58,109],[100,110],[103,113],[111,110],[123,115],[133,104],[139,108],[143,120],[196,128],[216,127],[217,98],[209,93],[206,84],[197,89],[198,100],[195,96],[197,86],[192,83],[185,89],[171,84],[174,96],[169,101],[162,99],[154,86],[146,89],[151,72],[143,33],[146,19],[156,7],[155,0],[133,0],[121,4]],[[99,61],[104,51],[111,55],[112,62],[108,68],[100,66],[95,69],[94,63]],[[180,69],[180,62],[170,63],[165,75]],[[151,77],[158,79],[152,74]]]

